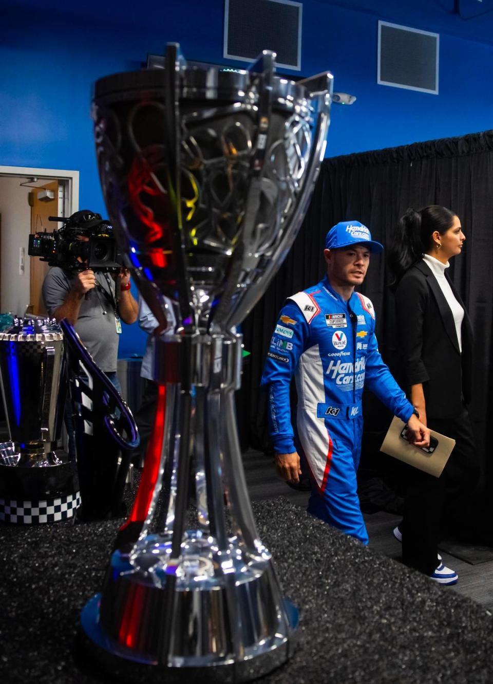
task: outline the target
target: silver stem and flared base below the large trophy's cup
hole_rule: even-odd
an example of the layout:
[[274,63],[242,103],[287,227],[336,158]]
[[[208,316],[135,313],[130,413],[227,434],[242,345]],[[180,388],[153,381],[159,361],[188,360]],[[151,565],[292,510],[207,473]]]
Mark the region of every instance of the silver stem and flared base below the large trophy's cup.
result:
[[178,344],[181,384],[167,385],[172,434],[161,439],[146,522],[132,547],[114,552],[83,631],[113,672],[124,658],[151,666],[148,681],[196,668],[208,681],[249,681],[289,657],[297,613],[282,598],[246,489],[234,400],[241,337]]

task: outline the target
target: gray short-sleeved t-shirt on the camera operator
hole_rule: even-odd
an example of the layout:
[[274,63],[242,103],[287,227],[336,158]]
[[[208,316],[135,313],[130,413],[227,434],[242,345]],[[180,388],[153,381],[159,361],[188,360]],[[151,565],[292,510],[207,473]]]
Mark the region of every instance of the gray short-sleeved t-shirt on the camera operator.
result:
[[[77,274],[53,266],[42,286],[44,306],[50,316],[65,301]],[[94,361],[105,373],[114,373],[118,358],[118,332],[115,321],[115,282],[111,276],[96,273],[96,287],[81,302],[75,330]],[[111,293],[111,294],[110,294]],[[103,313],[104,311],[104,313]]]

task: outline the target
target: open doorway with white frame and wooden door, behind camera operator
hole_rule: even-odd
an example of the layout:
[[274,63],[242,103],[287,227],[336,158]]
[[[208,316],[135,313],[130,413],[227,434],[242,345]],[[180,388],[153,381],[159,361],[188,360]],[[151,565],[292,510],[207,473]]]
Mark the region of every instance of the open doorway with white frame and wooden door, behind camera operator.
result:
[[46,262],[29,257],[29,233],[62,226],[49,216],[79,209],[79,172],[0,166],[0,313],[45,315]]

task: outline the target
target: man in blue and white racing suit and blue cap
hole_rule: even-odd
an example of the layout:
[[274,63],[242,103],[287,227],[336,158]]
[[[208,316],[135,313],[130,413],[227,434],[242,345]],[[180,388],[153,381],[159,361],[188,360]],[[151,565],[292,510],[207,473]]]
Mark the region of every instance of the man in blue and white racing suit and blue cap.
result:
[[323,251],[327,276],[287,299],[261,382],[269,391],[269,432],[278,473],[288,482],[298,482],[301,474],[289,406],[294,374],[297,437],[312,486],[308,512],[363,544],[368,543],[368,535],[356,484],[363,387],[408,423],[408,438],[414,445],[429,444],[429,430],[379,354],[373,305],[354,291],[367,273],[370,253],[382,250],[358,221],[331,228]]

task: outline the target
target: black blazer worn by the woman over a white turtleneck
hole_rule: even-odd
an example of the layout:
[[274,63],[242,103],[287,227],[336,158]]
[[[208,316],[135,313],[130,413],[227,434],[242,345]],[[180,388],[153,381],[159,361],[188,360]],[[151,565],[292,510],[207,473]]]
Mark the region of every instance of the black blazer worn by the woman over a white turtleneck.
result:
[[395,293],[403,378],[408,389],[423,383],[429,418],[455,418],[470,402],[472,326],[449,283],[464,308],[462,354],[451,308],[425,261],[405,272]]

